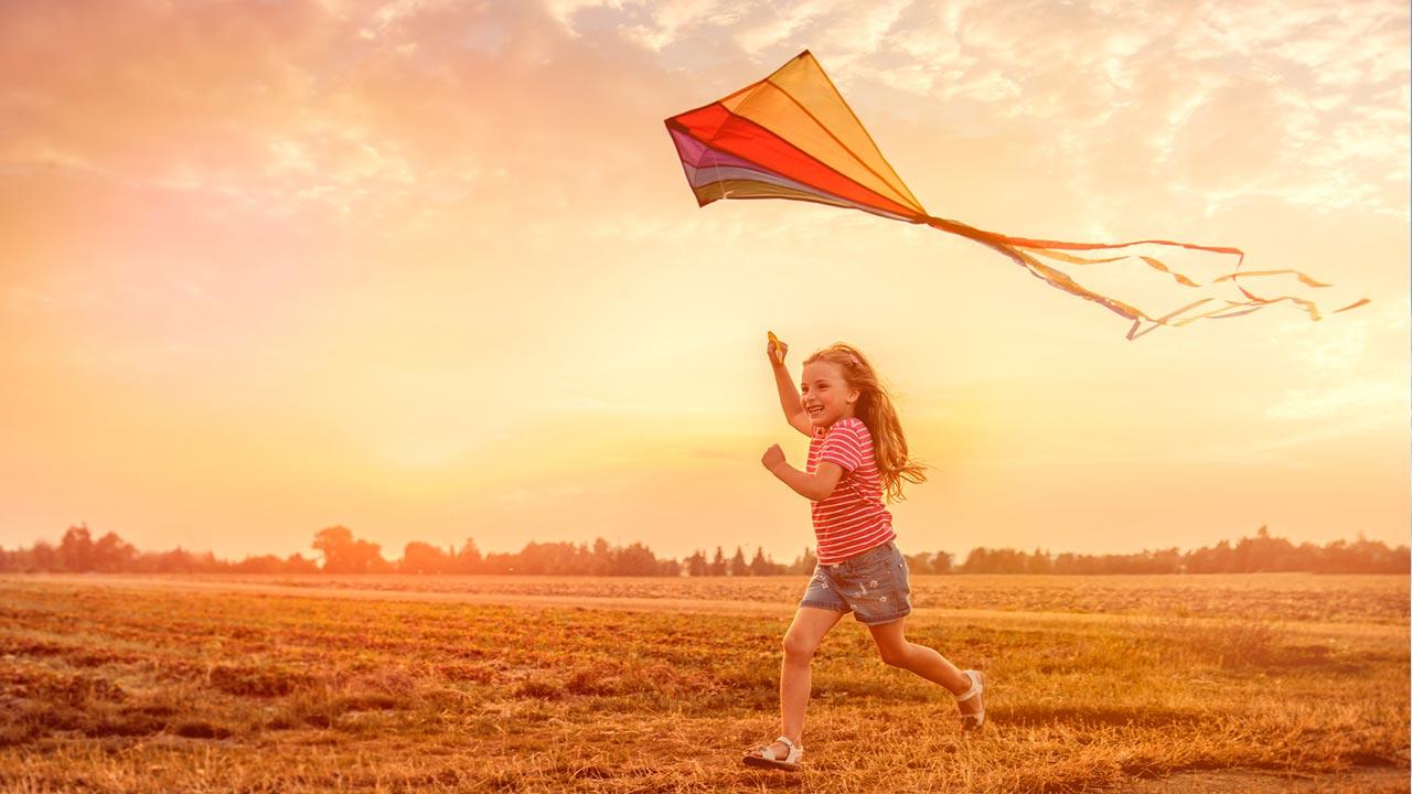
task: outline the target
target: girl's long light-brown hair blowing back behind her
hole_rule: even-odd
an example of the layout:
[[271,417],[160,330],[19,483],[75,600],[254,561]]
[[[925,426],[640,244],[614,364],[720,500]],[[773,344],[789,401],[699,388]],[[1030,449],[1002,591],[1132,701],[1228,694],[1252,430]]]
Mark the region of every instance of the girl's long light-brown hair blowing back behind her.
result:
[[851,345],[836,342],[815,352],[803,363],[820,360],[839,365],[844,383],[860,391],[853,414],[873,435],[873,454],[882,479],[884,496],[888,502],[901,502],[905,499],[902,483],[926,482],[926,466],[908,454],[907,437],[902,435],[902,422],[897,420],[892,398],[868,359]]

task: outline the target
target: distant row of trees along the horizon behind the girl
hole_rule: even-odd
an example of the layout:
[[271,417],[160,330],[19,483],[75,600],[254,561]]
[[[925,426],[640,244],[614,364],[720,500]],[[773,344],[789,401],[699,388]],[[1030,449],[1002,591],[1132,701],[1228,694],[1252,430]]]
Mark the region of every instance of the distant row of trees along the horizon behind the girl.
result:
[[[357,538],[347,527],[319,530],[311,548],[318,554],[249,555],[240,561],[181,547],[138,551],[114,533],[93,538],[88,524],[69,527],[58,545],[38,541],[28,548],[0,548],[0,572],[113,572],[113,574],[528,574],[580,576],[771,576],[809,574],[818,558],[812,548],[789,564],[775,562],[757,548],[747,561],[741,547],[731,557],[716,547],[713,555],[695,551],[685,559],[658,558],[641,543],[611,545],[530,543],[518,552],[481,554],[467,538],[460,547],[412,541],[402,557],[387,559],[381,545]],[[1389,548],[1358,535],[1356,541],[1295,545],[1260,527],[1255,537],[1234,544],[1220,541],[1192,551],[1165,548],[1137,554],[1051,554],[1014,548],[974,548],[962,564],[947,551],[907,555],[914,574],[1248,574],[1306,571],[1316,574],[1409,574],[1406,545]]]

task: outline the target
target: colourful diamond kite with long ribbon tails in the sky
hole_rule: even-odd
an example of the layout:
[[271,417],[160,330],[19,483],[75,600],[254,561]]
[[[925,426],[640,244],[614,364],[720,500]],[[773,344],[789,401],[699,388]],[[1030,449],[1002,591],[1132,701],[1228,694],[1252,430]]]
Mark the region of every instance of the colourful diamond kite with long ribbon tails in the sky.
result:
[[[1036,240],[986,232],[957,220],[933,218],[897,175],[858,117],[805,49],[768,78],[754,82],[730,96],[695,110],[666,119],[666,131],[686,171],[686,181],[696,194],[698,206],[724,198],[779,198],[808,201],[840,208],[861,209],[882,218],[926,225],[960,235],[1010,257],[1015,264],[1052,287],[1107,307],[1132,322],[1127,338],[1137,339],[1159,326],[1180,326],[1197,319],[1240,316],[1278,302],[1291,302],[1320,319],[1313,300],[1295,295],[1257,295],[1255,284],[1288,283],[1289,277],[1310,288],[1319,283],[1296,270],[1241,271],[1245,253],[1240,249],[1197,246],[1173,240],[1135,240],[1130,243],[1067,243]],[[1186,249],[1238,257],[1230,273],[1196,280],[1154,256],[1123,249]],[[1107,254],[1107,256],[1106,256]],[[1234,285],[1240,295],[1231,298],[1179,295],[1176,309],[1145,312],[1135,301],[1121,301],[1099,294],[1070,277],[1060,267],[1094,266],[1135,259],[1161,273],[1169,291],[1202,290],[1216,284]],[[1285,277],[1285,278],[1272,278]],[[1196,300],[1189,300],[1189,298]],[[1334,312],[1367,304],[1354,301]]]

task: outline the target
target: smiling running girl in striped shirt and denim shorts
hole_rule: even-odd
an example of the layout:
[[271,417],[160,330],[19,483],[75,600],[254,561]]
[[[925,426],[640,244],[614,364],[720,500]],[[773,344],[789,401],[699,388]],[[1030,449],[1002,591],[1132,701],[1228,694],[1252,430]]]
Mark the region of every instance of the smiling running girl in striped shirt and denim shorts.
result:
[[782,732],[774,743],[746,754],[755,767],[795,770],[809,704],[809,661],[829,629],[851,612],[868,627],[884,663],[940,684],[956,698],[962,729],[986,722],[981,674],[957,670],[939,653],[902,633],[912,612],[907,561],[898,551],[892,516],[882,497],[902,497],[902,480],[921,483],[922,466],[908,456],[907,439],[873,365],[849,345],[830,345],[803,362],[801,391],[785,369],[789,346],[770,335],[765,355],[775,372],[785,418],[809,437],[805,470],[785,462],[775,444],[761,462],[795,493],[812,502],[819,565],[785,633],[779,671]]

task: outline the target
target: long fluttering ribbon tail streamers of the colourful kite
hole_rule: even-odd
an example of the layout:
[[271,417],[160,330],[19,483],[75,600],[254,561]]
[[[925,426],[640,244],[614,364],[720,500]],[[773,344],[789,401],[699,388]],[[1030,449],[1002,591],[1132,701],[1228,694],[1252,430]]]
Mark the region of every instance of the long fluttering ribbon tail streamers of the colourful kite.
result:
[[[950,220],[946,218],[932,218],[932,216],[919,216],[918,219],[914,220],[914,223],[925,223],[940,232],[949,232],[952,235],[960,235],[962,237],[976,240],[977,243],[991,250],[1005,254],[1015,264],[1019,264],[1036,278],[1046,281],[1051,287],[1063,290],[1065,292],[1077,295],[1080,298],[1106,307],[1107,309],[1132,322],[1132,326],[1128,329],[1127,335],[1130,340],[1137,339],[1156,329],[1158,326],[1165,325],[1171,328],[1178,328],[1202,318],[1221,319],[1228,316],[1243,316],[1282,301],[1289,301],[1295,304],[1298,308],[1303,309],[1309,315],[1309,319],[1312,321],[1322,319],[1319,314],[1319,307],[1313,301],[1309,301],[1306,298],[1298,298],[1293,295],[1279,295],[1279,297],[1255,295],[1254,292],[1245,288],[1245,284],[1241,284],[1241,278],[1293,274],[1306,287],[1315,287],[1315,288],[1329,287],[1329,284],[1316,281],[1298,270],[1257,270],[1257,271],[1243,273],[1241,266],[1245,263],[1245,251],[1226,246],[1197,246],[1193,243],[1182,243],[1176,240],[1134,240],[1128,243],[1072,243],[1065,240],[1035,240],[1031,237],[1011,237],[1007,235],[997,235],[995,232],[977,229],[974,226],[969,226],[959,220]],[[1236,256],[1238,257],[1236,260],[1236,268],[1226,275],[1220,275],[1211,280],[1210,284],[1216,284],[1220,281],[1230,281],[1237,290],[1240,290],[1240,292],[1245,297],[1245,300],[1230,301],[1217,298],[1200,298],[1162,316],[1151,316],[1134,305],[1117,301],[1114,298],[1101,295],[1099,292],[1094,292],[1093,290],[1083,287],[1082,284],[1070,278],[1067,274],[1053,267],[1049,267],[1048,264],[1043,264],[1038,259],[1039,256],[1042,256],[1046,259],[1055,259],[1070,264],[1100,264],[1100,263],[1128,259],[1131,254],[1093,259],[1093,257],[1082,257],[1067,251],[1100,251],[1100,250],[1127,249],[1132,246],[1168,246],[1168,247],[1178,247],[1195,251],[1209,251],[1217,254]],[[1156,257],[1138,256],[1137,259],[1142,260],[1148,267],[1154,270],[1166,273],[1168,275],[1172,277],[1173,281],[1176,281],[1182,287],[1196,288],[1204,285],[1182,273],[1172,270],[1162,260]],[[1334,309],[1333,314],[1348,311],[1368,302],[1370,302],[1368,298],[1363,298],[1343,308]]]

